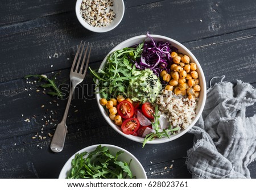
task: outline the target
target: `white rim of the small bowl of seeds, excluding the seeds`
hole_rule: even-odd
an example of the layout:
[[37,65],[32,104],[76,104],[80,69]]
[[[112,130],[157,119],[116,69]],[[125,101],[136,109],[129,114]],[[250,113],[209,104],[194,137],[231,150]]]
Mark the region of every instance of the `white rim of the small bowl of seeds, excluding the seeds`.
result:
[[[106,27],[93,27],[90,26],[90,24],[86,23],[85,20],[82,18],[82,16],[80,15],[80,6],[82,3],[82,0],[77,0],[76,1],[76,6],[75,6],[75,11],[76,11],[76,17],[79,20],[80,24],[85,27],[86,29],[88,29],[89,31],[92,32],[97,32],[97,33],[103,33],[103,32],[109,32],[112,29],[114,29],[115,27],[117,27],[119,25],[119,23],[121,23],[122,19],[123,19],[123,15],[125,14],[125,3],[123,2],[123,0],[117,0],[119,3],[121,3],[121,9],[118,9],[121,12],[121,16],[119,17],[119,20],[117,22],[115,22],[114,24],[109,24]],[[115,18],[117,19],[117,18]]]

